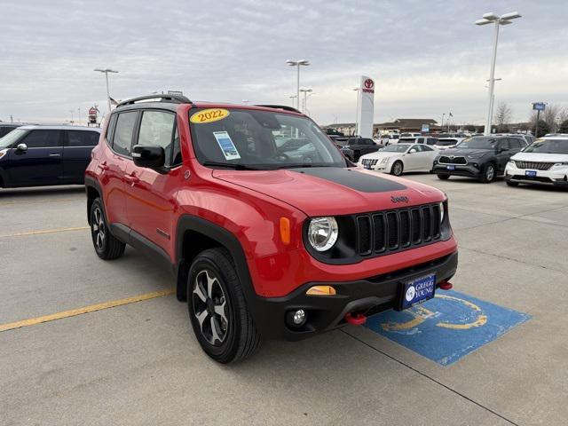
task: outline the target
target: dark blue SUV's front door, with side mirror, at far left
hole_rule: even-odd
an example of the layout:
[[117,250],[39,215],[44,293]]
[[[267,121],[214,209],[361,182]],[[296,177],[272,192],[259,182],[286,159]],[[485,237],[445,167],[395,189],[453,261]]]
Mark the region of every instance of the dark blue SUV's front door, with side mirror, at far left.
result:
[[61,131],[51,129],[31,130],[18,144],[28,149],[12,148],[7,172],[13,186],[43,186],[62,183],[63,146]]

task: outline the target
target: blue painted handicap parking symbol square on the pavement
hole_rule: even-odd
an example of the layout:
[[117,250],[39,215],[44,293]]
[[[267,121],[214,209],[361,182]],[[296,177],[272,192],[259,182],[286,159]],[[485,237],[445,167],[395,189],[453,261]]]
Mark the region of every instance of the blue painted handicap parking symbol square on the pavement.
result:
[[457,291],[438,290],[424,304],[368,318],[365,327],[448,366],[530,318]]

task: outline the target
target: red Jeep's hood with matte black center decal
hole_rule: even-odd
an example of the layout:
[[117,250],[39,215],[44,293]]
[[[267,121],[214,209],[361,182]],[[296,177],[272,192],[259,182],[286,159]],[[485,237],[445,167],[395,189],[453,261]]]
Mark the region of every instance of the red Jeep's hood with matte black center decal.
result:
[[[396,209],[445,199],[444,193],[431,186],[355,168],[213,170],[213,177],[286,202],[310,217]],[[404,196],[407,202],[401,198]]]

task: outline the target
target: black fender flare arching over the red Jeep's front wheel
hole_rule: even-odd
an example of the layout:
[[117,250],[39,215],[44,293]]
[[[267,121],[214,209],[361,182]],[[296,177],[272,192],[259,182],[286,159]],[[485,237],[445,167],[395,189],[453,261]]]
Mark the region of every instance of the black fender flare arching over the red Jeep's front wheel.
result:
[[176,276],[177,276],[177,299],[185,300],[185,283],[187,282],[187,272],[189,268],[188,262],[185,260],[184,253],[184,234],[186,231],[201,233],[213,241],[217,241],[224,246],[231,256],[237,276],[241,281],[241,288],[247,302],[248,310],[252,315],[255,323],[258,324],[257,298],[255,288],[252,284],[250,272],[248,271],[247,257],[242,248],[241,241],[228,231],[226,228],[216,225],[209,220],[195,217],[192,215],[183,215],[179,217],[176,228]]

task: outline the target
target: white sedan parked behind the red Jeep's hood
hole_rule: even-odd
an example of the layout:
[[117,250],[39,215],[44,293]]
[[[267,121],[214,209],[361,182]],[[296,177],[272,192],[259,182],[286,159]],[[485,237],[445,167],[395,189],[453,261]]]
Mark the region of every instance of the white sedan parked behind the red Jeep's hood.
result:
[[424,144],[395,144],[362,155],[358,167],[400,176],[405,171],[430,171],[438,151]]

